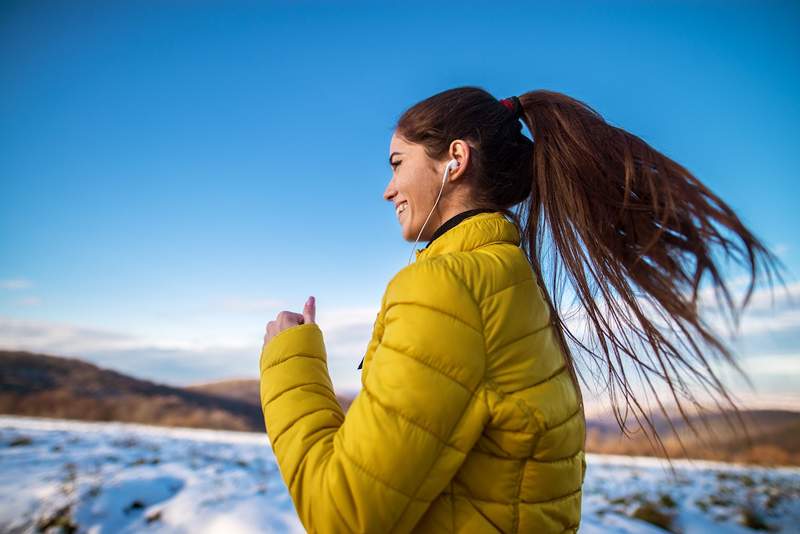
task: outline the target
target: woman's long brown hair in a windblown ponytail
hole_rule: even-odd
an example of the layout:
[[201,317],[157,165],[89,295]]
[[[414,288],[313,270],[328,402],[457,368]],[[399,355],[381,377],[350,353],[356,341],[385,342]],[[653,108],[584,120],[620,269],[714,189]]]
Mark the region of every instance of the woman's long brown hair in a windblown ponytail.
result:
[[[550,288],[542,289],[581,407],[581,389],[565,334],[600,364],[622,432],[627,435],[617,406],[617,388],[626,411],[634,406],[639,427],[650,440],[637,412],[644,416],[667,458],[669,454],[655,426],[630,387],[624,368],[629,364],[635,366],[654,394],[650,376],[667,384],[682,418],[698,437],[677,392],[695,407],[700,408],[701,404],[687,387],[681,368],[711,393],[718,408],[717,399],[726,399],[746,428],[739,409],[697,341],[705,342],[711,354],[721,354],[751,387],[752,383],[730,349],[701,319],[698,286],[708,271],[717,302],[721,290],[738,329],[739,313],[750,300],[759,260],[767,274],[770,267],[783,268],[780,260],[686,168],[641,138],[606,123],[588,105],[546,90],[524,93],[519,100],[523,108],[521,119],[533,141],[522,132],[513,110],[479,87],[450,89],[415,104],[398,120],[396,133],[423,145],[426,154],[437,161],[449,157],[453,140],[470,144],[465,183],[475,207],[496,209],[514,221],[522,236],[522,248],[541,284],[543,245],[549,232],[557,254],[550,256]],[[514,206],[516,212],[511,209]],[[524,225],[520,223],[523,215]],[[726,238],[720,227],[732,231],[743,247]],[[750,285],[741,310],[736,310],[720,267],[712,257],[712,244],[720,245],[728,256],[738,254],[740,261],[749,266]],[[550,290],[555,301],[561,301],[559,258],[602,353],[582,343],[553,305]],[[595,300],[598,289],[605,301],[603,308]],[[642,301],[672,323],[667,334],[647,316]],[[643,349],[638,350],[631,342],[630,332]],[[669,339],[677,333],[685,336],[690,350],[678,350]],[[621,353],[627,358],[622,358]],[[586,383],[582,374],[580,377]],[[677,436],[661,400],[658,405]],[[652,446],[652,440],[650,443]]]

